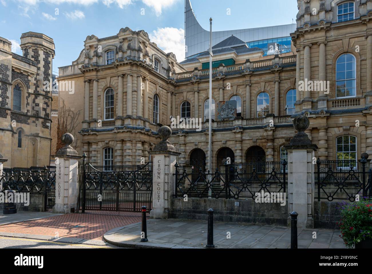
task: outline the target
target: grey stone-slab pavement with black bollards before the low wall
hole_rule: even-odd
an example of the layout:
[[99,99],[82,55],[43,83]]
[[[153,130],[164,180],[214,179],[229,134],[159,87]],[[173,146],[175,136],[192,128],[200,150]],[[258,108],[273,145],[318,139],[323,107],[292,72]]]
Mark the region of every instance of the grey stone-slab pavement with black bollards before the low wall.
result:
[[[140,227],[140,224],[138,224]],[[140,242],[138,227],[126,226],[105,233],[113,245],[132,248],[205,248],[206,221],[169,219],[147,221],[147,243]],[[317,239],[312,239],[312,232]],[[230,232],[230,238],[227,237]],[[320,236],[319,236],[320,235]],[[298,229],[298,248],[343,248],[339,231]],[[283,226],[214,222],[216,248],[290,248],[291,230]]]

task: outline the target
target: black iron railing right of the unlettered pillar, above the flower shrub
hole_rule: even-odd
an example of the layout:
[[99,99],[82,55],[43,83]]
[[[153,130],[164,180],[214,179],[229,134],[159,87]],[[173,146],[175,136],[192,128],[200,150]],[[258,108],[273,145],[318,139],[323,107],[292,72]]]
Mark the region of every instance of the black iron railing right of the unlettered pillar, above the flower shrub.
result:
[[315,167],[315,199],[355,201],[356,195],[371,197],[371,173],[366,167],[368,161],[321,161]]

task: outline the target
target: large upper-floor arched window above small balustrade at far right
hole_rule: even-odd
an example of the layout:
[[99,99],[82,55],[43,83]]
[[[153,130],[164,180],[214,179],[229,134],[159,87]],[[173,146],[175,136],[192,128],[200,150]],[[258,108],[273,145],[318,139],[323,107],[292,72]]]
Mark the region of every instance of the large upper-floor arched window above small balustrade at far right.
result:
[[350,54],[342,54],[336,62],[336,97],[355,97],[356,95],[356,62]]

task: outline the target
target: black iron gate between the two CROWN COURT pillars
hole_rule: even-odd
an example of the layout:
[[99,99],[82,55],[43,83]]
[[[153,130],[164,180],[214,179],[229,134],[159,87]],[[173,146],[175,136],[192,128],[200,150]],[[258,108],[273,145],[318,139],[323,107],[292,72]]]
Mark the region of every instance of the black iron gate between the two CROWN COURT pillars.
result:
[[[85,161],[85,159],[84,159]],[[83,164],[77,210],[150,212],[153,194],[152,163],[128,166]]]

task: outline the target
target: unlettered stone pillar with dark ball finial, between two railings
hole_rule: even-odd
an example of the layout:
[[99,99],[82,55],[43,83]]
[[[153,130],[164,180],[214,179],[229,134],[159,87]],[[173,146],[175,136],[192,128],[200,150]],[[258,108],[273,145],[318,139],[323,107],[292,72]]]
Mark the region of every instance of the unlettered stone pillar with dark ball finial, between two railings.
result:
[[299,228],[314,228],[315,164],[313,161],[314,151],[318,147],[311,143],[305,133],[309,124],[307,116],[295,117],[293,125],[298,133],[289,145],[284,146],[288,152],[288,212],[298,213],[297,227]]

